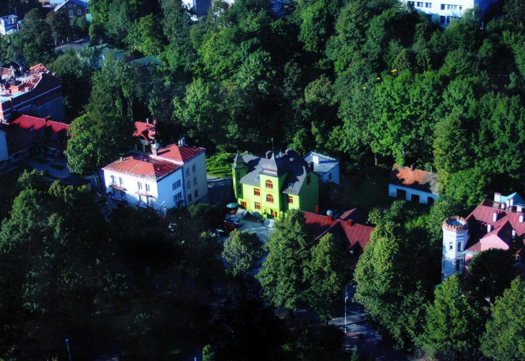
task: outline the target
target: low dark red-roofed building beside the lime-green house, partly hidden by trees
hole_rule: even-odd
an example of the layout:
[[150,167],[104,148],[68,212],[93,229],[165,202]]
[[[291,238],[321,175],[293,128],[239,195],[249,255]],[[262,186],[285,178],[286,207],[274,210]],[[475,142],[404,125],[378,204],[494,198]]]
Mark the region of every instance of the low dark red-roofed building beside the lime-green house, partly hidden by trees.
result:
[[348,210],[341,215],[330,213],[324,216],[306,211],[303,211],[303,215],[316,240],[331,233],[340,240],[341,246],[349,251],[350,263],[355,266],[364,248],[370,243],[370,234],[374,230],[374,227],[363,224],[365,217],[358,208]]

